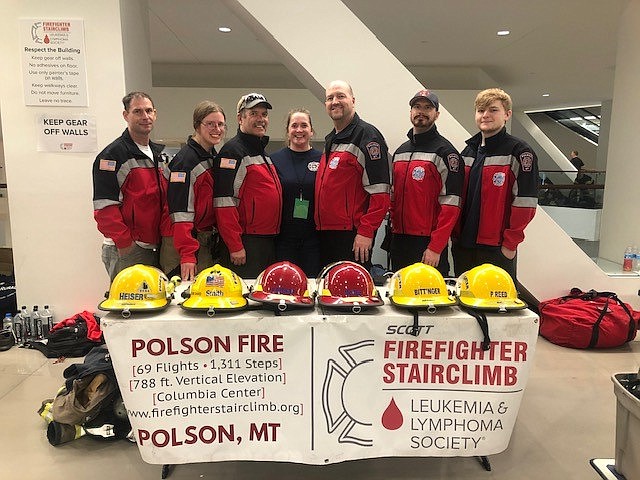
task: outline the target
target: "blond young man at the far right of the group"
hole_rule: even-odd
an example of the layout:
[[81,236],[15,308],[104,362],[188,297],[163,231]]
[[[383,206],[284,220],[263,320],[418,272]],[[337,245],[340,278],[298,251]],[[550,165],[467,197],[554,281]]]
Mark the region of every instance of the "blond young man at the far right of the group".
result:
[[452,249],[456,275],[491,263],[516,280],[516,250],[538,204],[538,159],[526,142],[507,133],[511,107],[511,97],[498,88],[476,97],[480,132],[461,153],[465,188]]

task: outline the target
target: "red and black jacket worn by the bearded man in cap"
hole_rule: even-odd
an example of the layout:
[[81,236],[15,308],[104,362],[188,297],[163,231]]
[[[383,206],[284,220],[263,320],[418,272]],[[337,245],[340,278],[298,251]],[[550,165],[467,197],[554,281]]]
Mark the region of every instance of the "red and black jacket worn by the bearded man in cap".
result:
[[431,237],[429,249],[441,253],[460,215],[464,163],[434,125],[407,134],[393,155],[393,233]]

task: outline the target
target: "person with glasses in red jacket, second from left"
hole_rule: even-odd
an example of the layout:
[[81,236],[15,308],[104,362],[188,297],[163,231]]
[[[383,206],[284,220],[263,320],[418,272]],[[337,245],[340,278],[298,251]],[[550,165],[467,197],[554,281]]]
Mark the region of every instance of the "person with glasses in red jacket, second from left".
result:
[[193,110],[194,133],[165,169],[173,236],[162,237],[160,263],[169,277],[180,275],[190,281],[216,263],[213,158],[226,127],[220,105],[209,100],[198,103]]

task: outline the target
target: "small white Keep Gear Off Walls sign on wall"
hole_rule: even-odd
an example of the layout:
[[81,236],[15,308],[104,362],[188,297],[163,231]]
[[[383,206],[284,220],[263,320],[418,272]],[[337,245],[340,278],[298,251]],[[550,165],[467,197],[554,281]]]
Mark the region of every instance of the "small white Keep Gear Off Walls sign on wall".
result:
[[93,115],[38,116],[39,152],[95,152],[98,149]]

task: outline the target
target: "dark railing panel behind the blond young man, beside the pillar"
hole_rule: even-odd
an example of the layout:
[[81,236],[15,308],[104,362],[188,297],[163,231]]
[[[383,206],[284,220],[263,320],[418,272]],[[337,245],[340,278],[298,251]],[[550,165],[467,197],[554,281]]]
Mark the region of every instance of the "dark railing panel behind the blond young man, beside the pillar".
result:
[[540,170],[538,203],[554,207],[601,209],[605,173],[602,170]]

